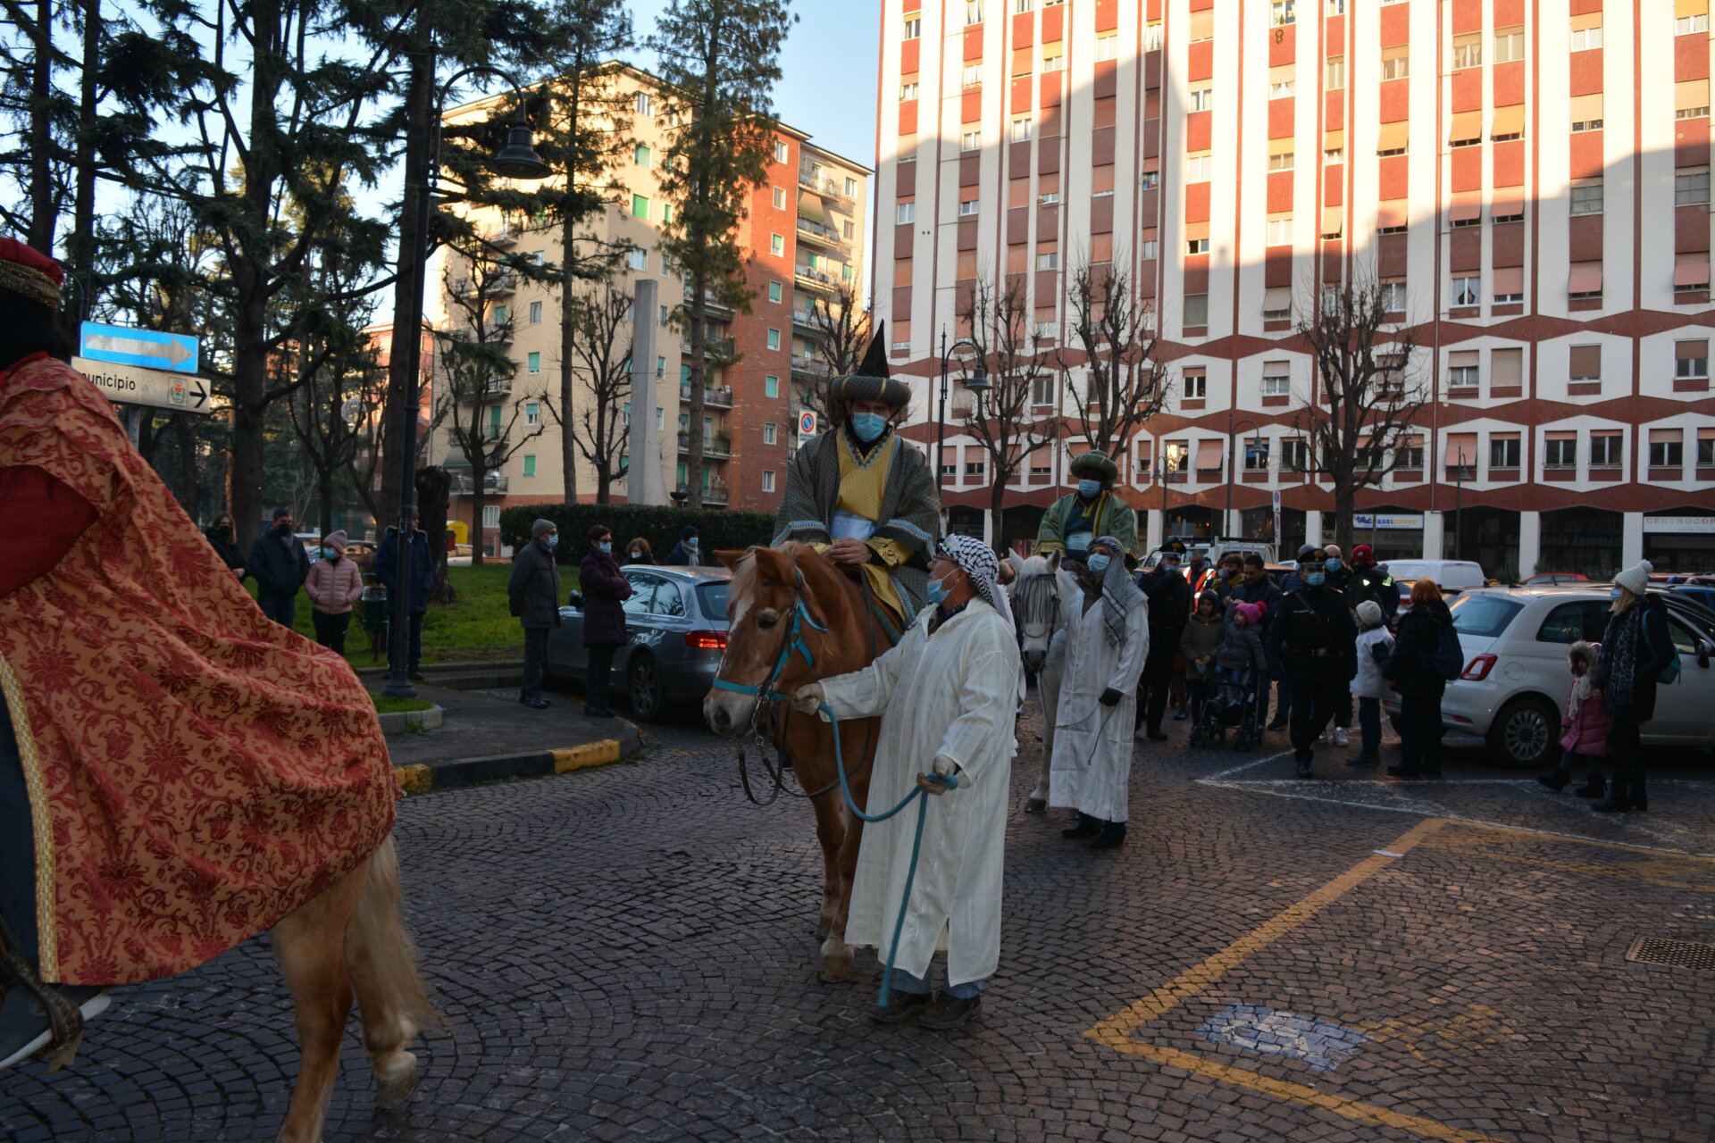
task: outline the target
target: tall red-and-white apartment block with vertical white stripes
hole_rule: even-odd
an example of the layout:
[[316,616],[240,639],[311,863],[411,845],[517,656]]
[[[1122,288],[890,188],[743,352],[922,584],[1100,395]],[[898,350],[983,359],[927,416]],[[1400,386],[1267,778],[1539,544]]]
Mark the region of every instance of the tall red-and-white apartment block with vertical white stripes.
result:
[[[1360,495],[1384,555],[1715,567],[1706,0],[887,0],[882,33],[875,296],[923,440],[974,278],[1024,284],[1055,355],[1110,264],[1171,379],[1123,464],[1149,542],[1273,535],[1276,497],[1317,542],[1295,319],[1381,283],[1429,398]],[[1005,540],[1084,447],[1041,399]],[[976,530],[984,454],[947,432]]]

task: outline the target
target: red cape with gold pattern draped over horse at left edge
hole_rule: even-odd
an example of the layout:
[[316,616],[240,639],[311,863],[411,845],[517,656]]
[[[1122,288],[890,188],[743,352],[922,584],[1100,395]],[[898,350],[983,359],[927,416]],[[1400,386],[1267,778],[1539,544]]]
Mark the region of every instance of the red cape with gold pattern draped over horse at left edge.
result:
[[0,596],[41,975],[194,968],[388,836],[376,709],[343,658],[262,615],[77,370],[0,374],[5,470],[93,509],[51,571]]

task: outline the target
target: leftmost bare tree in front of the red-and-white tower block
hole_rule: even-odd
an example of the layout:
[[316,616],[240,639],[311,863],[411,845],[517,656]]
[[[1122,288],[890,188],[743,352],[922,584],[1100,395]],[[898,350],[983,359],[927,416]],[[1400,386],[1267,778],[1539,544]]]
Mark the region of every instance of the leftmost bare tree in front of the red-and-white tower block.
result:
[[1046,353],[1036,350],[1038,326],[1020,279],[1008,279],[996,293],[991,281],[978,278],[957,305],[959,320],[969,327],[978,355],[988,368],[991,389],[964,410],[966,432],[988,454],[988,512],[991,535],[1000,543],[1002,511],[1007,485],[1029,463],[1031,452],[1053,435],[1051,418],[1034,415],[1031,406],[1055,370]]

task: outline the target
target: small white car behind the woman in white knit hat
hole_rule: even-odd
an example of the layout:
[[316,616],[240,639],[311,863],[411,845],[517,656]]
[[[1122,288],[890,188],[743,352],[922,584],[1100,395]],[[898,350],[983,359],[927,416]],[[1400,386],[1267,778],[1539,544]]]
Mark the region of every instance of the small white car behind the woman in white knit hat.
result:
[[[1645,745],[1715,744],[1715,612],[1672,593],[1652,593],[1667,605],[1667,629],[1679,648],[1679,679],[1655,692],[1655,718]],[[1559,757],[1561,711],[1573,677],[1566,648],[1600,643],[1607,627],[1609,588],[1477,588],[1453,600],[1465,673],[1447,684],[1441,721],[1478,735],[1514,766],[1545,766]],[[1384,699],[1398,716],[1399,701]]]

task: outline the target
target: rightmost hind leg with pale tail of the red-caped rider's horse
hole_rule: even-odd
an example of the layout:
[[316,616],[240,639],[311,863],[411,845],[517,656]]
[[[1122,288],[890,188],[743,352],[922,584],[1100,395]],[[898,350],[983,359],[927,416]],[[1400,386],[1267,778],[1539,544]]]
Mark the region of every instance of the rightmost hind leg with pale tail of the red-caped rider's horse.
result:
[[376,1073],[376,1105],[391,1110],[417,1086],[417,1056],[405,1045],[422,1021],[439,1021],[417,973],[417,949],[400,920],[400,857],[393,838],[369,859],[369,877],[345,931],[345,968],[364,1020],[364,1052]]

